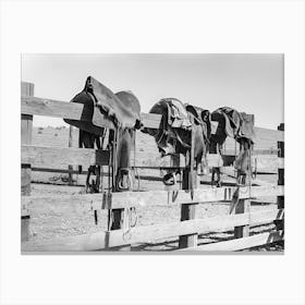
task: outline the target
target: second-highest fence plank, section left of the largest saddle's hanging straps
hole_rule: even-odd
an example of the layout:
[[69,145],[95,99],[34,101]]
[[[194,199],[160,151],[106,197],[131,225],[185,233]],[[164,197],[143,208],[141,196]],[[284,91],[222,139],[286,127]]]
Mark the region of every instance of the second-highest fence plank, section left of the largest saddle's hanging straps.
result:
[[90,148],[59,148],[35,145],[22,145],[21,162],[35,167],[59,166],[107,166],[110,152]]

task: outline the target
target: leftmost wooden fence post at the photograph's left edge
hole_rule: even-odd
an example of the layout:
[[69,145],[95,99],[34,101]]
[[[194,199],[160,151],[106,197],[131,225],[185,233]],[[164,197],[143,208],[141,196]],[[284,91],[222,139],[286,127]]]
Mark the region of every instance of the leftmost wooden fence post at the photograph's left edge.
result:
[[[22,96],[34,96],[34,84],[21,83]],[[21,114],[21,144],[32,144],[32,131],[33,131],[33,115]],[[32,170],[30,164],[21,166],[21,195],[30,195],[30,179]],[[29,215],[24,211],[21,216],[21,241],[27,241],[29,236]]]

